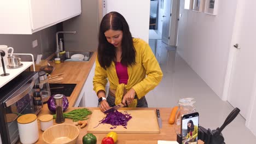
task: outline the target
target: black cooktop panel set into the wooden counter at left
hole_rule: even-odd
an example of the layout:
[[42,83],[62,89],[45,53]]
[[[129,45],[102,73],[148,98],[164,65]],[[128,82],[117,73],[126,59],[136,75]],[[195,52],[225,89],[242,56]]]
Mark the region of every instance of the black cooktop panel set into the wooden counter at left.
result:
[[49,83],[51,95],[63,94],[66,97],[70,97],[76,85],[73,83]]

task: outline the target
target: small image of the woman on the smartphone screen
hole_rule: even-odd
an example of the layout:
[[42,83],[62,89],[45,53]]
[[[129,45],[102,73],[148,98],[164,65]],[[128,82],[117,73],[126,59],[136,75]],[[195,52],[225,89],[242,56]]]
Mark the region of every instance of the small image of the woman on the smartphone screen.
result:
[[197,140],[198,127],[194,125],[194,122],[192,120],[188,121],[187,133],[188,133],[186,137],[187,142],[195,142]]

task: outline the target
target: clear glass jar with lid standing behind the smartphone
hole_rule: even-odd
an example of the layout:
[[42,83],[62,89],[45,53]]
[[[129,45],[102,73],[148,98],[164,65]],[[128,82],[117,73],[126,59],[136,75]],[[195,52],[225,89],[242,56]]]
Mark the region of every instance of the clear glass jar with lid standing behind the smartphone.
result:
[[176,112],[175,123],[174,123],[174,129],[176,131],[176,134],[181,134],[182,115],[196,112],[194,103],[195,103],[194,98],[179,99],[179,101],[178,101],[179,108]]

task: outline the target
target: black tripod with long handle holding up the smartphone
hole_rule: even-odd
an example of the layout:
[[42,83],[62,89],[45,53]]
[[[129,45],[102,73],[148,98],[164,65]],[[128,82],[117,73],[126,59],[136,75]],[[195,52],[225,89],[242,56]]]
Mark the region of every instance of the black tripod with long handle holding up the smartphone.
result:
[[[205,128],[199,126],[198,139],[205,142],[205,144],[225,144],[222,130],[226,127],[226,125],[231,123],[236,118],[239,112],[240,110],[237,107],[232,110],[222,126],[216,130],[206,130]],[[179,134],[177,135],[177,142],[182,143],[182,136]]]

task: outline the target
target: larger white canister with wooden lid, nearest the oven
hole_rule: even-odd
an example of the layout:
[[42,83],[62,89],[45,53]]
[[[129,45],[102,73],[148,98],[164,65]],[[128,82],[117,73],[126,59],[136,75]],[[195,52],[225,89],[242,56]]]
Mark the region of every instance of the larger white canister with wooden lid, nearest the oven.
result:
[[21,143],[34,143],[39,138],[37,115],[26,114],[17,119]]

